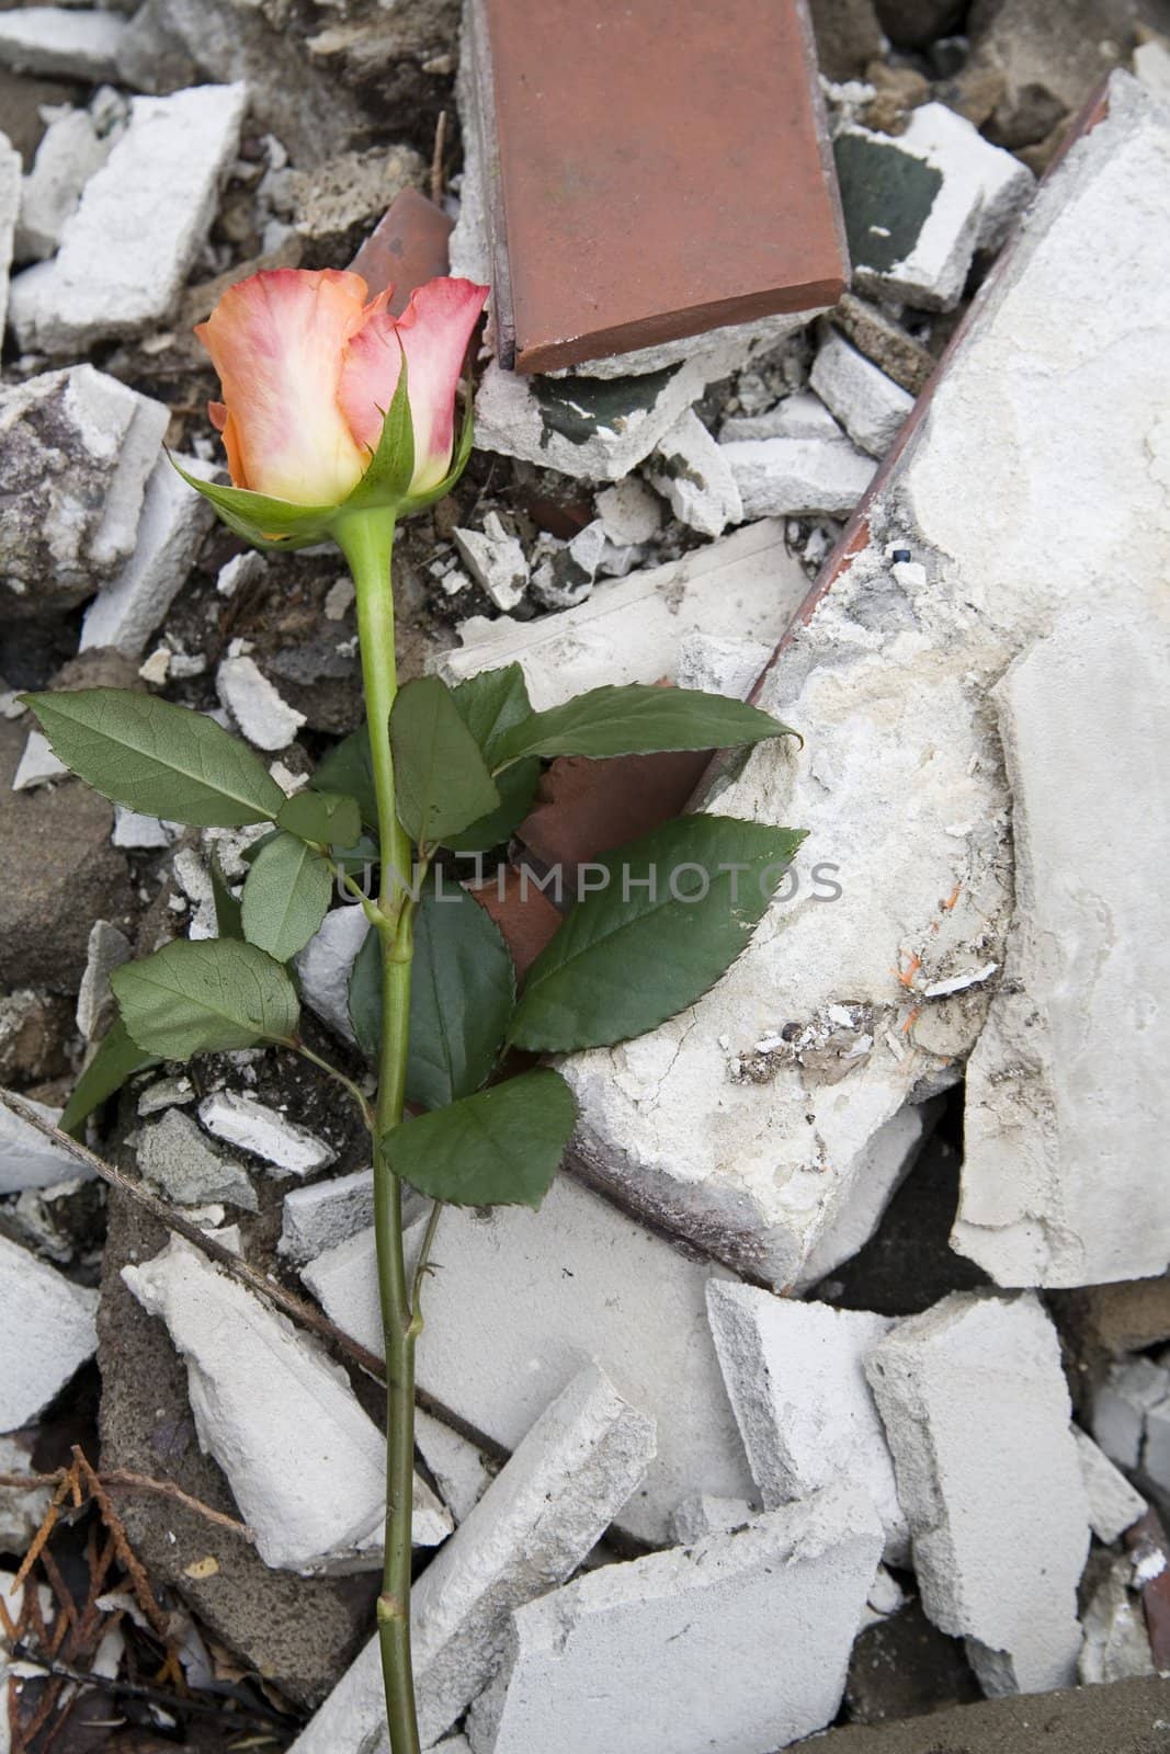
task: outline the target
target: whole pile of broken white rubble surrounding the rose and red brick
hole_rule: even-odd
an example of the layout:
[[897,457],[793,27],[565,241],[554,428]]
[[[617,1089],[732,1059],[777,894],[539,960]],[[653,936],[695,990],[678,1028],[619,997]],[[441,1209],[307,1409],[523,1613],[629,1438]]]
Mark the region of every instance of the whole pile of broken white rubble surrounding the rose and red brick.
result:
[[[810,831],[712,991],[563,1059],[542,1210],[442,1216],[426,1747],[1024,1754],[1044,1694],[1070,1747],[1137,1754],[1170,1719],[1170,35],[1056,11],[814,0],[842,296],[544,374],[493,316],[477,451],[403,524],[403,675],[517,661],[537,709],[674,681],[803,737],[617,758],[605,796],[553,763],[475,879],[521,973],[558,919],[530,856],[660,802]],[[491,277],[460,40],[454,0],[0,11],[0,1086],[46,1121],[111,973],[214,933],[263,826],[107,805],[18,696],[196,707],[289,795],[360,724],[340,558],[244,551],[167,451],[226,479],[191,328],[237,279],[426,277],[447,233]],[[339,898],[296,958],[354,1077],[367,930]],[[360,1119],[249,1049],[137,1072],[89,1142],[146,1205],[0,1105],[4,1575],[51,1535],[4,1598],[0,1750],[100,1698],[84,1745],[153,1754],[93,1691],[149,1658],[189,1747],[214,1707],[386,1754]],[[46,1529],[82,1463],[116,1587]],[[60,1614],[89,1691],[37,1666]]]

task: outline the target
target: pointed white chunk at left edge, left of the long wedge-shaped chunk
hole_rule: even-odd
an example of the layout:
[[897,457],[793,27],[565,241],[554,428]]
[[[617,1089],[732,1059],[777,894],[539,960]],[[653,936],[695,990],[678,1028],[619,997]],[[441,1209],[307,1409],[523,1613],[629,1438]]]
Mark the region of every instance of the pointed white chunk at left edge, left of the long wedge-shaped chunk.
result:
[[32,1424],[93,1358],[96,1310],[96,1291],[0,1237],[0,1431]]

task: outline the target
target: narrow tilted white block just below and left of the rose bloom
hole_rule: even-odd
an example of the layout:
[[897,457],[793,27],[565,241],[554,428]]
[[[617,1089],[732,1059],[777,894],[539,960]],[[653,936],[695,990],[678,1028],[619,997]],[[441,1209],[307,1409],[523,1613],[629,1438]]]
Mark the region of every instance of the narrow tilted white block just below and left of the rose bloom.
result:
[[[195,456],[181,456],[179,463],[202,481],[218,474]],[[89,603],[81,624],[81,651],[116,645],[128,658],[142,654],[186,584],[214,516],[203,495],[186,484],[170,458],[160,458],[146,484],[137,547]]]

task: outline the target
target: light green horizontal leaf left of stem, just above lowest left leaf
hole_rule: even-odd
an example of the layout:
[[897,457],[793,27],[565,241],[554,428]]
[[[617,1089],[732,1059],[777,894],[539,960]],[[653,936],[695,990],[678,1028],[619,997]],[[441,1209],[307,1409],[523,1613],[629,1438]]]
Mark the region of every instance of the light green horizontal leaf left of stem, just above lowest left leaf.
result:
[[300,1016],[281,965],[235,938],[175,938],[111,984],[132,1042],[160,1059],[289,1042]]

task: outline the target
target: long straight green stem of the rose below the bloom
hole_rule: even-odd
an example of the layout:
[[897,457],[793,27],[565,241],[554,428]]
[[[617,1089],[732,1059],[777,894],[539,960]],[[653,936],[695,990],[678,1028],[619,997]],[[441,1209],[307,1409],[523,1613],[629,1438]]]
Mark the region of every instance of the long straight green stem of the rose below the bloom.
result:
[[412,845],[395,810],[389,709],[398,691],[395,658],[393,514],[351,512],[333,528],[358,593],[358,642],[365,684],[374,791],[381,837],[375,930],[382,947],[382,1044],[374,1117],[374,1233],[386,1340],[386,1563],[377,1633],[393,1754],[419,1754],[410,1665],[410,1514],[414,1500],[414,1347],[421,1330],[417,1280],[407,1280],[402,1251],[402,1184],[382,1140],[402,1121],[410,1023],[414,921],[409,884]]

